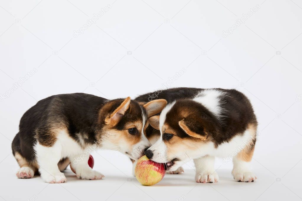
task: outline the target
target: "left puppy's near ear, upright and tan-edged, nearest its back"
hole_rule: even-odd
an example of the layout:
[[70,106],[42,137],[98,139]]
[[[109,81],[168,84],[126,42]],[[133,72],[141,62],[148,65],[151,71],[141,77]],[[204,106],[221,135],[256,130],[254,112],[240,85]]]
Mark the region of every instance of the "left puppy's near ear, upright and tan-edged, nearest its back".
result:
[[111,126],[115,126],[121,118],[124,116],[125,112],[130,105],[130,97],[127,97],[109,116],[105,119],[105,123]]

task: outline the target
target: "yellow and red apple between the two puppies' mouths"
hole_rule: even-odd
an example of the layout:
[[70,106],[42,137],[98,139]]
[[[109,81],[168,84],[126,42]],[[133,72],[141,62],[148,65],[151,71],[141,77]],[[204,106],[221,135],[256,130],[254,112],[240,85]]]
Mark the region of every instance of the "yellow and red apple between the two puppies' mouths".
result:
[[162,180],[166,171],[163,163],[149,160],[144,155],[138,159],[134,172],[135,177],[141,184],[152,186]]

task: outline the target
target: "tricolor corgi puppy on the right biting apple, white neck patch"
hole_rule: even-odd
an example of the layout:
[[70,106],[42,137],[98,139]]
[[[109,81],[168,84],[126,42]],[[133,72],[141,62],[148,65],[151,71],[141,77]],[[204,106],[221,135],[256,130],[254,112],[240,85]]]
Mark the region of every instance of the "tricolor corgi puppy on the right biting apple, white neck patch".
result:
[[[160,115],[149,118],[149,124],[160,131],[160,138],[145,155],[166,169],[178,167],[194,159],[196,182],[218,181],[215,157],[233,159],[236,181],[253,182],[257,178],[250,169],[257,120],[249,99],[236,90],[178,88],[176,96]],[[165,90],[162,93],[177,91]],[[162,97],[161,95],[158,98]]]

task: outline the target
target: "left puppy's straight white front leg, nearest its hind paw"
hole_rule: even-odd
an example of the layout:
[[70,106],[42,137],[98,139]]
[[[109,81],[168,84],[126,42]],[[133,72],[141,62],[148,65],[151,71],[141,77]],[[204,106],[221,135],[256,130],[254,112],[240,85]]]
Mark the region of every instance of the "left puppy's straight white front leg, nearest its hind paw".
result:
[[58,167],[62,145],[58,141],[53,146],[43,146],[37,142],[34,149],[42,179],[47,183],[64,183],[66,177]]

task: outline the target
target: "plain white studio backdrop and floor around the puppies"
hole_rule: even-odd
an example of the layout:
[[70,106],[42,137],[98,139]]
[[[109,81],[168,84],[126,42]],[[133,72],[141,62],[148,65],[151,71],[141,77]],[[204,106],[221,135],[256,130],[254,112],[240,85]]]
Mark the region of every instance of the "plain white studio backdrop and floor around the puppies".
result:
[[[256,5],[244,24],[222,37]],[[299,0],[1,0],[0,94],[9,97],[0,102],[0,200],[300,200],[301,20]],[[186,72],[169,81],[182,68]],[[93,156],[104,180],[77,180],[69,169],[65,184],[15,177],[11,141],[38,100],[75,92],[135,98],[163,84],[236,88],[250,98],[259,120],[256,182],[235,182],[232,163],[218,159],[218,183],[195,183],[190,162],[185,174],[143,187],[126,156],[103,150]]]

